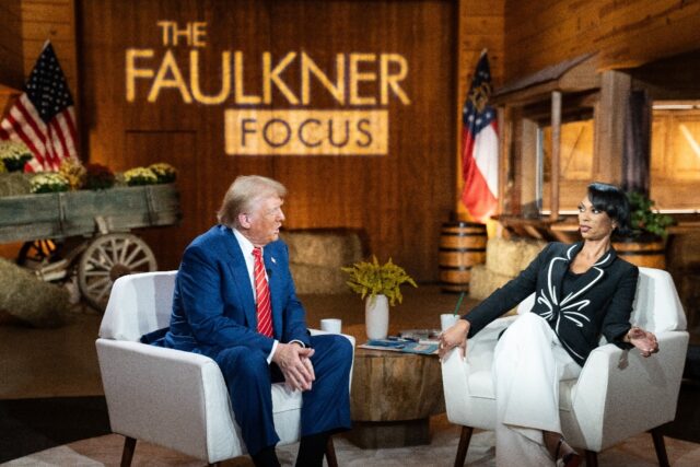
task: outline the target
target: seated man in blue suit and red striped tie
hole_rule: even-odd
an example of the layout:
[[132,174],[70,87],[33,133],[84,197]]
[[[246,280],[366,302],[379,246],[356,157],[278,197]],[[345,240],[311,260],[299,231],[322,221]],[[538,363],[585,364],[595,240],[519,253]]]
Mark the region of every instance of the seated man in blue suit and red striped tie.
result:
[[164,343],[219,364],[256,466],[279,466],[271,384],[303,392],[296,465],[320,466],[330,433],[350,428],[352,347],[341,336],[308,335],[279,240],[285,195],[270,178],[234,180],[219,224],[185,249]]

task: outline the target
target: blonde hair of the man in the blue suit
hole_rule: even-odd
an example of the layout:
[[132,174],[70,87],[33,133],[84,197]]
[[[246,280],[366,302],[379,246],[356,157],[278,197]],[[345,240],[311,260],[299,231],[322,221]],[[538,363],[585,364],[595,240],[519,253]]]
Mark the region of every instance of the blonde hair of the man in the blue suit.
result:
[[284,198],[287,188],[261,175],[240,175],[226,190],[217,219],[220,224],[235,227],[238,225],[238,214],[250,212],[256,202],[270,196]]

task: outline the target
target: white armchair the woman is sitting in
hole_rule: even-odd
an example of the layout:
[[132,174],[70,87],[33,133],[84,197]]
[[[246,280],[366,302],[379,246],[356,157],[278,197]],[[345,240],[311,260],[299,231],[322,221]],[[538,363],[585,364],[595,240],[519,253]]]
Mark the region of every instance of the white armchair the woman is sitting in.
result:
[[[532,300],[524,301],[518,313],[528,312]],[[447,418],[463,425],[455,466],[464,465],[475,428],[494,429],[493,348],[514,318],[497,319],[469,339],[465,361],[453,351],[442,364]],[[640,268],[631,322],[655,332],[658,353],[645,359],[635,349],[602,345],[578,380],[560,383],[563,434],[572,446],[585,450],[590,467],[597,466],[600,451],[644,431],[651,431],[660,465],[668,465],[664,439],[656,429],[676,417],[688,347],[686,317],[668,272]]]

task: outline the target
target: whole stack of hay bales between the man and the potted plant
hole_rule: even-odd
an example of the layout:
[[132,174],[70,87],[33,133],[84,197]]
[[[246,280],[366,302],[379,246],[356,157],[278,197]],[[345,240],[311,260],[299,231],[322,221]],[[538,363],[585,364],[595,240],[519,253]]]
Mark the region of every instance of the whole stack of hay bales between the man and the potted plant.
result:
[[362,243],[355,232],[305,230],[282,232],[289,246],[289,261],[296,293],[345,293],[341,266],[362,259]]

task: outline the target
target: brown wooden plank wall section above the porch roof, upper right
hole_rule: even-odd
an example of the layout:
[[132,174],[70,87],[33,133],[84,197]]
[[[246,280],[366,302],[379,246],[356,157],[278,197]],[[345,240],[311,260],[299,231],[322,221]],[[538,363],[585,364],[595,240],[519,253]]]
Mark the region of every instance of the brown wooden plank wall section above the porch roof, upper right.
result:
[[603,69],[637,66],[696,49],[699,26],[698,1],[505,0],[505,79],[591,51]]

